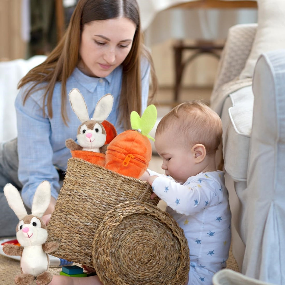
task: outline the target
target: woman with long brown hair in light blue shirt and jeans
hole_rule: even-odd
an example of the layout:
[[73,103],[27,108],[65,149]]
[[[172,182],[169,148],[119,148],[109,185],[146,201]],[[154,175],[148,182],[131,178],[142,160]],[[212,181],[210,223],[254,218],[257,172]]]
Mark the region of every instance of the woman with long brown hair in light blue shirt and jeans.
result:
[[31,207],[36,187],[48,180],[52,198],[46,214],[54,209],[59,173],[71,157],[65,140],[76,139],[80,123],[68,102],[69,91],[80,90],[90,114],[97,101],[111,93],[114,104],[107,120],[120,133],[130,127],[131,111],[146,108],[150,74],[154,94],[157,81],[143,46],[137,2],[79,0],[62,40],[19,83],[18,139],[0,145],[0,211],[9,219],[0,225],[0,236],[14,235],[17,224],[3,197],[6,183],[19,189],[23,185],[23,200]]

